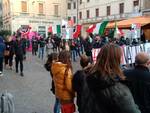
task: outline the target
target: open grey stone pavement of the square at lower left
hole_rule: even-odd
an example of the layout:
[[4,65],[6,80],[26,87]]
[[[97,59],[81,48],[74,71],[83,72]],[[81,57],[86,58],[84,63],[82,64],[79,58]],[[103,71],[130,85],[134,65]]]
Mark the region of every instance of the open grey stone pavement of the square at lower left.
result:
[[[27,55],[24,77],[13,70],[4,70],[0,77],[0,93],[8,91],[14,96],[15,113],[53,113],[54,96],[50,92],[50,75],[43,67],[44,61]],[[74,71],[79,68],[73,63]]]

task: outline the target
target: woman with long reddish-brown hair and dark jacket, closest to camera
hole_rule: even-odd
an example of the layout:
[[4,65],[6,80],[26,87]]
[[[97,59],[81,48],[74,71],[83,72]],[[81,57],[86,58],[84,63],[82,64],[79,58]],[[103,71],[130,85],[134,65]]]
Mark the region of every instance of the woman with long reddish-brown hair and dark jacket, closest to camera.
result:
[[85,79],[82,113],[141,113],[130,90],[120,83],[126,79],[120,68],[121,56],[121,48],[115,44],[101,48]]

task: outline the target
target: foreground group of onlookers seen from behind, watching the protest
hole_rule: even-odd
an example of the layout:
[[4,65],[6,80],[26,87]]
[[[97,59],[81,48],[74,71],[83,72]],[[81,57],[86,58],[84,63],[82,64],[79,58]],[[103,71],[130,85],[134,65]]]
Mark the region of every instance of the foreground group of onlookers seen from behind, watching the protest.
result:
[[76,105],[79,113],[149,113],[150,56],[138,53],[135,67],[123,70],[119,43],[100,46],[95,64],[89,54],[80,53],[81,70],[74,74],[72,49],[48,56],[45,67],[56,97],[54,113],[74,113]]

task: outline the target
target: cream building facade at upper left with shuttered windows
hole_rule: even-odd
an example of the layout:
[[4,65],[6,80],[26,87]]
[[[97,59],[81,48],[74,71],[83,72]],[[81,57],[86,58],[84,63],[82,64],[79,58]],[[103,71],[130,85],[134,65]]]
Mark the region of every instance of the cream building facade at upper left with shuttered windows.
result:
[[3,28],[12,33],[30,26],[47,36],[48,27],[67,17],[66,0],[2,0]]

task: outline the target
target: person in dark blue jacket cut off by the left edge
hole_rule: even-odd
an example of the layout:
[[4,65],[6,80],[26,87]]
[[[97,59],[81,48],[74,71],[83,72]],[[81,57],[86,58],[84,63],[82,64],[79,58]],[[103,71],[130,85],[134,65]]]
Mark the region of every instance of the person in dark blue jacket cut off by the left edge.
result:
[[3,38],[0,36],[0,76],[3,76],[3,58],[4,58],[5,44]]

